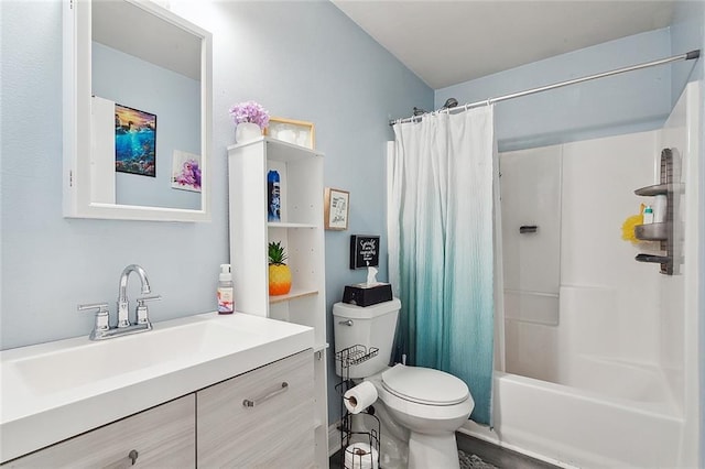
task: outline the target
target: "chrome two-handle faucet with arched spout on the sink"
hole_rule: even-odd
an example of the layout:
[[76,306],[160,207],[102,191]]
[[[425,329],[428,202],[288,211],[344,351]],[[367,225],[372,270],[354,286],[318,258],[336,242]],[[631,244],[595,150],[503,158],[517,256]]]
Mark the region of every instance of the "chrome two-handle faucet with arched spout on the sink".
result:
[[130,274],[135,272],[142,282],[142,294],[152,293],[150,282],[147,279],[147,271],[137,264],[130,264],[120,274],[120,287],[118,291],[118,324],[110,327],[110,315],[107,303],[95,303],[88,305],[78,305],[78,310],[98,309],[96,313],[96,324],[90,332],[90,340],[102,340],[111,337],[126,336],[129,334],[145,332],[152,330],[152,324],[149,318],[149,310],[144,303],[162,299],[160,295],[142,296],[137,298],[135,323],[130,323],[129,310],[130,302],[128,299],[128,280]]

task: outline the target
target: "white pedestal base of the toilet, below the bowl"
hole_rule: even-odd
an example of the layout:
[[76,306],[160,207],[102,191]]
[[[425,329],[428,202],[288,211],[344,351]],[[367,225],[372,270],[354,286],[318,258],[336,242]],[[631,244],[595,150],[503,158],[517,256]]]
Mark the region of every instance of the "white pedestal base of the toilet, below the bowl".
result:
[[427,435],[411,432],[409,469],[460,469],[455,433]]

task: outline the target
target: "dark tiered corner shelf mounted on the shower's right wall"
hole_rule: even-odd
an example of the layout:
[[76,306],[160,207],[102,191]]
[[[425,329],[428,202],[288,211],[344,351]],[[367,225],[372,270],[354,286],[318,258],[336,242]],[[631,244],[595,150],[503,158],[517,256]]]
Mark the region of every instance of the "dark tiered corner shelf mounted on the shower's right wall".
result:
[[683,193],[683,185],[676,183],[680,179],[679,166],[675,164],[673,152],[671,149],[661,151],[661,184],[641,187],[634,190],[638,196],[653,197],[658,195],[666,196],[665,221],[648,225],[637,225],[634,227],[634,237],[642,241],[660,241],[660,250],[664,255],[660,254],[637,254],[634,258],[638,262],[652,262],[661,264],[661,273],[673,275],[674,273],[674,254],[675,242],[673,232],[673,214],[674,205],[677,203],[676,195]]

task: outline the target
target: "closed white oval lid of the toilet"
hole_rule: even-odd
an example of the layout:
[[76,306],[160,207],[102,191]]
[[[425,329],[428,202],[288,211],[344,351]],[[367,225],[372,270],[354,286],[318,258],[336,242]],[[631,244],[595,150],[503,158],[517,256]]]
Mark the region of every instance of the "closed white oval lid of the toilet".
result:
[[403,364],[384,371],[382,385],[403,400],[429,405],[458,404],[470,394],[467,385],[453,374]]

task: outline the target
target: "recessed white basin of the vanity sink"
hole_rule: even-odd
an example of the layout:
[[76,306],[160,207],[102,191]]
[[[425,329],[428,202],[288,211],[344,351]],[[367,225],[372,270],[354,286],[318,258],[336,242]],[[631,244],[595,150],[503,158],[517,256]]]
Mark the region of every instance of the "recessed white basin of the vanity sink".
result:
[[252,332],[216,321],[166,328],[156,325],[147,332],[80,343],[19,359],[9,366],[33,393],[47,394],[150,367],[236,352],[258,342]]

